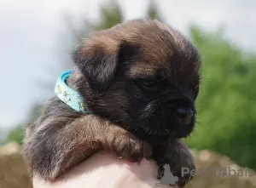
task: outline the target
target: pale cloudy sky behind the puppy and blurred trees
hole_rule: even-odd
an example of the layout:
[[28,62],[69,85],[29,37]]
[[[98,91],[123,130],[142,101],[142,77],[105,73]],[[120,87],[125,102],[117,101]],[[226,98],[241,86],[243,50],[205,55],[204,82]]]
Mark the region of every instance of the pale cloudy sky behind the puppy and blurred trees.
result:
[[[44,102],[54,93],[38,80],[55,83],[61,62],[60,45],[70,43],[63,15],[76,22],[81,16],[98,20],[103,0],[1,0],[0,1],[0,129],[26,121],[35,102]],[[118,1],[125,20],[145,14],[148,0]],[[232,43],[247,50],[256,49],[254,0],[156,0],[161,16],[168,24],[188,34],[190,24],[206,31],[224,26]],[[254,18],[253,18],[254,17]],[[70,52],[71,53],[71,52]],[[63,70],[64,71],[64,70]]]

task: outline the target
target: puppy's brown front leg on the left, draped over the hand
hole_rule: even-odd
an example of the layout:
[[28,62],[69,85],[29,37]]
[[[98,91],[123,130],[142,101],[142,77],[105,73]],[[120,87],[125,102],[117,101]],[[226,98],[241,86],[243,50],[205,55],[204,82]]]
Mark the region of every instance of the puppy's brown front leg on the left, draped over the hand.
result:
[[94,115],[67,122],[67,117],[38,120],[27,128],[24,157],[31,174],[55,179],[99,150],[141,161],[151,147],[134,134]]

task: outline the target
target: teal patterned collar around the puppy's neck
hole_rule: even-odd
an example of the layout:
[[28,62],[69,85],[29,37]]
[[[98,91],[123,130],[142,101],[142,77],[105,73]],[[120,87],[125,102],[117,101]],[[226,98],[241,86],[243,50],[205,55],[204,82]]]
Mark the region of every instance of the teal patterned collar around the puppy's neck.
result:
[[72,107],[73,110],[82,113],[89,113],[89,110],[84,104],[83,97],[72,88],[69,88],[66,84],[67,77],[69,77],[72,72],[73,70],[64,71],[58,77],[55,84],[55,94],[60,98],[60,100]]

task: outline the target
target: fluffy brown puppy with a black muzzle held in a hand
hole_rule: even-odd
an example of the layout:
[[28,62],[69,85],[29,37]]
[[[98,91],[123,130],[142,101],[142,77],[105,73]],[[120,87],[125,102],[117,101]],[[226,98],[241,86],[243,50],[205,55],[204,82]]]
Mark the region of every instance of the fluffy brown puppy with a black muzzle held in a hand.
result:
[[195,169],[179,139],[195,126],[201,65],[196,48],[157,20],[130,20],[84,39],[67,79],[84,97],[90,115],[57,97],[26,128],[24,157],[30,171],[55,179],[99,150],[139,162],[153,157],[179,176]]

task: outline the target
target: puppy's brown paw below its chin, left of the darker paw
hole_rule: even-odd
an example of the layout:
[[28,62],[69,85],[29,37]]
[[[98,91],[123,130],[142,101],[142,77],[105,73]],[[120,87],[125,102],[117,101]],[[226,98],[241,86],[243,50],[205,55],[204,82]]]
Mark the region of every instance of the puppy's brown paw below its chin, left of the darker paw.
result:
[[116,135],[112,148],[120,157],[131,162],[141,162],[143,158],[148,158],[152,154],[151,145],[128,132]]

